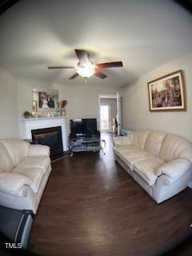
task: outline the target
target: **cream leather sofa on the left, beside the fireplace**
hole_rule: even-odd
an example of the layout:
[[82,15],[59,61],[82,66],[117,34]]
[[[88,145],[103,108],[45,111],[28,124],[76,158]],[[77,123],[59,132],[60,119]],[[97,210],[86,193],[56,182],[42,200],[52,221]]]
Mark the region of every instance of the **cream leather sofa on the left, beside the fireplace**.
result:
[[36,214],[50,171],[48,146],[0,139],[0,205]]

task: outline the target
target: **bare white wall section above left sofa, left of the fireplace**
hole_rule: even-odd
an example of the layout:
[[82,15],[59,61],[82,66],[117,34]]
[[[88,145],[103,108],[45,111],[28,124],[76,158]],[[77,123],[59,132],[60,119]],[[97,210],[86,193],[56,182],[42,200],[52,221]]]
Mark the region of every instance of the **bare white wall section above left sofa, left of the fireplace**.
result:
[[17,80],[0,68],[0,138],[18,138]]

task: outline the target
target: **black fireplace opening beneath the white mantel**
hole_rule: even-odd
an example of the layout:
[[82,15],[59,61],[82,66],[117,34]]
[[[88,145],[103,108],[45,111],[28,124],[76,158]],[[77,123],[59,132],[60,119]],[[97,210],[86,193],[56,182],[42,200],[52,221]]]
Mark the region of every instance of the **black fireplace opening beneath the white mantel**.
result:
[[50,146],[50,156],[62,155],[62,127],[50,127],[37,130],[31,130],[32,142]]

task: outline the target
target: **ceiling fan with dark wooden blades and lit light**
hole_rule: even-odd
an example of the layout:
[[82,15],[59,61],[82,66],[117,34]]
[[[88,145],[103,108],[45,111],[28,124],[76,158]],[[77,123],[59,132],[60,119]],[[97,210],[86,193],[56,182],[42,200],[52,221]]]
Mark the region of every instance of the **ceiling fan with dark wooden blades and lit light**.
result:
[[106,62],[94,64],[90,61],[90,54],[86,50],[74,50],[78,57],[77,66],[48,66],[49,70],[54,69],[75,69],[76,73],[73,74],[69,79],[77,78],[79,75],[83,78],[90,78],[92,75],[95,75],[98,78],[107,78],[106,74],[103,74],[100,69],[106,69],[111,67],[120,67],[122,62]]

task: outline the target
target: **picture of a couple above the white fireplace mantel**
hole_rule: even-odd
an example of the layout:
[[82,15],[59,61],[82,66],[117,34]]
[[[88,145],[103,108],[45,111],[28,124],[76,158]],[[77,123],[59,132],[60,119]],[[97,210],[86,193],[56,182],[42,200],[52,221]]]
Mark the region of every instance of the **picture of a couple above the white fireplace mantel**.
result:
[[[35,103],[34,103],[35,102]],[[58,103],[58,90],[43,90],[33,88],[33,108],[37,111],[54,111]]]

